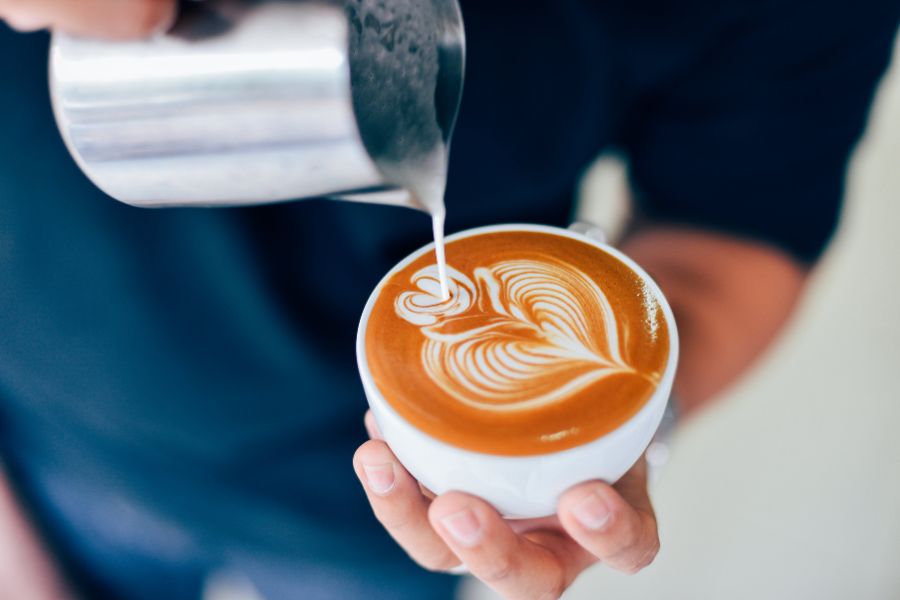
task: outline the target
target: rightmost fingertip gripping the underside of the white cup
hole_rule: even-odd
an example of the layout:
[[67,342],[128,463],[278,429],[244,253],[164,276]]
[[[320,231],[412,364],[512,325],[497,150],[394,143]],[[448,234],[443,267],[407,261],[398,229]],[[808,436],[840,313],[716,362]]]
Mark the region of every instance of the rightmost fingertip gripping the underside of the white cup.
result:
[[625,573],[640,571],[659,551],[656,517],[646,485],[636,483],[638,475],[623,478],[619,491],[599,481],[575,486],[558,509],[560,523],[574,540]]

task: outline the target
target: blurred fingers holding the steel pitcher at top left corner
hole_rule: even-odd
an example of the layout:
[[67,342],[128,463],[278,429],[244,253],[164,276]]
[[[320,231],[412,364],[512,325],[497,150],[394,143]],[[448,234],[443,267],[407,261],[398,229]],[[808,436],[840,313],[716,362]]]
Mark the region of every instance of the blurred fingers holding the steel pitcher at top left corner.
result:
[[0,18],[15,29],[51,28],[109,39],[165,31],[175,14],[175,0],[0,0]]

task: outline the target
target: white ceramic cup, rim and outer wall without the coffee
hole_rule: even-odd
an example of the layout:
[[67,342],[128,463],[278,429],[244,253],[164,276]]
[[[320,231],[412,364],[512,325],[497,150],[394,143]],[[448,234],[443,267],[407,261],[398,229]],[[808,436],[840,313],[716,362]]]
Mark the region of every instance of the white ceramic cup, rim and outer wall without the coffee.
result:
[[678,332],[672,309],[650,276],[620,251],[581,233],[545,225],[492,225],[448,236],[447,242],[500,231],[535,231],[589,244],[625,263],[653,292],[669,329],[669,359],[656,391],[637,414],[612,432],[581,446],[533,456],[500,456],[458,448],[427,435],[401,417],[372,380],[366,360],[366,326],[385,283],[412,261],[433,252],[434,244],[402,260],[372,292],[359,323],[356,358],[381,435],[422,485],[435,494],[457,490],[479,496],[506,517],[543,517],[556,512],[557,501],[568,488],[592,479],[615,482],[640,458],[659,427],[672,391],[678,363]]

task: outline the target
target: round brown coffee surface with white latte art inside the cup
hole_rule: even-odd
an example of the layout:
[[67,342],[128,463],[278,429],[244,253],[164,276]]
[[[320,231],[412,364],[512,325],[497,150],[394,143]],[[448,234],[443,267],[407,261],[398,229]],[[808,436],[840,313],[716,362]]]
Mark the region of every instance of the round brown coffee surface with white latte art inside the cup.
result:
[[552,233],[446,245],[449,298],[425,253],[381,286],[365,332],[372,379],[424,433],[499,455],[572,448],[653,395],[669,355],[659,302],[622,261]]

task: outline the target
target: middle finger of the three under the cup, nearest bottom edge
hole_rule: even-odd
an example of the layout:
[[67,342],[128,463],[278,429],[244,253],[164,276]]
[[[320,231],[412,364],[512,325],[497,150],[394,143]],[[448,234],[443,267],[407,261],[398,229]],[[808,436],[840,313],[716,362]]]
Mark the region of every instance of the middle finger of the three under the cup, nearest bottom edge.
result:
[[586,566],[569,556],[564,536],[517,535],[494,508],[468,494],[439,496],[429,518],[469,571],[506,598],[555,600]]

